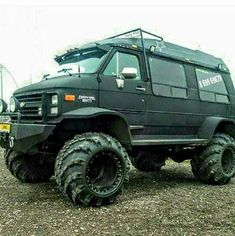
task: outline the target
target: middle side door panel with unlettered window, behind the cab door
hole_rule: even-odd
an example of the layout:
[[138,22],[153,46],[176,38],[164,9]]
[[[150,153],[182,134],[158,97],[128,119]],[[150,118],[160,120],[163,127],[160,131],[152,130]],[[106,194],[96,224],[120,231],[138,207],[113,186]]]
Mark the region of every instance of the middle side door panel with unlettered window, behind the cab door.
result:
[[185,65],[150,56],[146,130],[159,139],[194,138],[196,133]]

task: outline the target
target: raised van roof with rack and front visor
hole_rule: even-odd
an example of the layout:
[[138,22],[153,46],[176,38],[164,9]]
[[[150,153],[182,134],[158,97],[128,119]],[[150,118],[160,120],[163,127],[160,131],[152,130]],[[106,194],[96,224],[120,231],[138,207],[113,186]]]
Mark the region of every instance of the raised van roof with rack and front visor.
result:
[[[147,37],[144,35],[147,35]],[[74,54],[80,50],[86,50],[87,48],[93,48],[97,46],[103,48],[108,46],[107,50],[109,50],[110,46],[112,46],[144,51],[145,60],[146,55],[152,54],[229,73],[228,67],[221,58],[215,57],[200,50],[193,50],[166,42],[161,36],[149,33],[142,30],[141,28],[121,33],[107,39],[91,42],[83,45],[80,48],[68,50],[65,54],[56,56],[55,60],[60,63],[68,55]]]

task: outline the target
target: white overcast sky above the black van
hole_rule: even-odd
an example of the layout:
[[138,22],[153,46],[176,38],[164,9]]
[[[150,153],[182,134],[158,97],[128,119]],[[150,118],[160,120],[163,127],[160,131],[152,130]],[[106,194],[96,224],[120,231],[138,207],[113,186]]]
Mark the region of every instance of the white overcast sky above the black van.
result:
[[[53,70],[54,55],[137,27],[161,35],[166,41],[222,57],[235,74],[234,5],[66,2],[69,1],[59,5],[0,4],[0,64],[11,71],[20,86],[30,80],[39,81]],[[5,97],[14,89],[5,75]]]

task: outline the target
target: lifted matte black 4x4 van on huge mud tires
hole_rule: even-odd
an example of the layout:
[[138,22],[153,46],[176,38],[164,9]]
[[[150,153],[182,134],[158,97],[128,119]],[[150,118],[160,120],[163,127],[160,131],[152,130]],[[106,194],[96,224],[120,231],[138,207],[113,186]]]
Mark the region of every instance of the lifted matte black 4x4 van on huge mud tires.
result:
[[235,92],[225,63],[132,30],[56,56],[58,73],[0,101],[0,145],[19,180],[47,181],[75,204],[112,203],[167,158],[204,183],[235,174]]

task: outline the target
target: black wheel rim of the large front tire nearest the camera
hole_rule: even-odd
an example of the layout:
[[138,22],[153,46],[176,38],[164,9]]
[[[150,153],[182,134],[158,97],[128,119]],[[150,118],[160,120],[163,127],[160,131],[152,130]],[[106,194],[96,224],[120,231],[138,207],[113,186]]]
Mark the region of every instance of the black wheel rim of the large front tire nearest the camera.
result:
[[86,168],[90,190],[99,197],[111,195],[123,182],[123,165],[119,155],[111,150],[96,153]]

